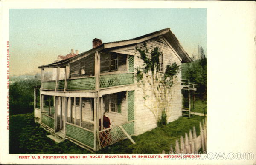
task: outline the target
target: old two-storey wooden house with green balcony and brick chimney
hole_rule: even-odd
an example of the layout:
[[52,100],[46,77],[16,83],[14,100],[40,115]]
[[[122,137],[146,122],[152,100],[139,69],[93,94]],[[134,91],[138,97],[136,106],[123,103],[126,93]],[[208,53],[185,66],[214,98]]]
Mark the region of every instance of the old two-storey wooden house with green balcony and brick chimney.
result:
[[[168,63],[192,61],[169,28],[111,43],[94,39],[93,48],[86,52],[39,66],[42,82],[40,92],[35,90],[35,96],[40,96],[35,97],[35,121],[55,136],[92,151],[106,146],[102,138],[108,138],[107,145],[111,145],[157,127],[151,110],[160,107],[154,105],[151,86],[145,84],[143,91],[136,81],[136,68],[144,63],[136,46],[145,42],[162,51],[160,73]],[[182,115],[180,72],[176,79],[172,97],[166,98],[170,102],[168,122]],[[145,99],[145,92],[151,97]],[[40,106],[36,107],[39,101]],[[107,129],[100,123],[105,111],[111,122]],[[106,132],[108,136],[104,136]]]

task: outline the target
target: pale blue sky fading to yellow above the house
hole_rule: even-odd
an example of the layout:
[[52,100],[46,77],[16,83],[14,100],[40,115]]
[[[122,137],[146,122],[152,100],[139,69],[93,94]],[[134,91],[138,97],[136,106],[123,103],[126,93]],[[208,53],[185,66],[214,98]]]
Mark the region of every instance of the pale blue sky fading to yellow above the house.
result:
[[207,9],[10,9],[10,74],[40,72],[71,49],[79,53],[103,43],[170,28],[184,50],[207,54]]

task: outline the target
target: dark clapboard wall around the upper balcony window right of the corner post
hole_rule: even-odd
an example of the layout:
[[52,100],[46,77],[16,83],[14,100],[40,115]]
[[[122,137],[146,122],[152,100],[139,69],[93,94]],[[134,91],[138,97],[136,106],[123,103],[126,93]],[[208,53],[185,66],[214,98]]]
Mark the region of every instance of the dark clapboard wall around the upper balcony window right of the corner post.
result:
[[[111,53],[102,53],[100,56],[100,73],[105,73],[110,71],[110,54]],[[117,71],[126,71],[126,61],[127,55],[126,54],[117,54],[118,59],[118,70]],[[114,72],[113,72],[114,73]]]

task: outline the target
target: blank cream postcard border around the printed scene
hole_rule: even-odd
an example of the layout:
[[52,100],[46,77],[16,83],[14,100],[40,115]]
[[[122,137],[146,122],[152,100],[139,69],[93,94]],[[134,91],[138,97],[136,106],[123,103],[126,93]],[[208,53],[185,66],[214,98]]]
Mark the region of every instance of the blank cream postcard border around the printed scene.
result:
[[[255,164],[256,11],[241,1],[1,1],[1,164]],[[6,41],[9,9],[29,8],[207,8],[207,118],[212,153],[253,152],[254,160],[17,159],[8,154]],[[10,52],[11,55],[11,52]],[[24,154],[20,154],[25,156]],[[50,155],[50,154],[26,154]],[[52,154],[51,154],[52,155]],[[77,155],[77,154],[54,154]],[[85,154],[79,154],[85,155]],[[111,154],[108,154],[111,155]],[[148,154],[147,154],[148,155]],[[155,155],[155,154],[154,154]]]

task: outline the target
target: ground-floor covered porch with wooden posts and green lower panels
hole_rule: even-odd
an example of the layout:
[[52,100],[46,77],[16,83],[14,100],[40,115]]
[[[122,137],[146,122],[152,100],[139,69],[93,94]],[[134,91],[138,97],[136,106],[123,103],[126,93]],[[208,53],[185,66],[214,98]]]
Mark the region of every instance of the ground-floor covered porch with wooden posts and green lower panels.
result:
[[[40,108],[35,109],[39,123],[55,136],[90,151],[131,139],[134,134],[134,90],[123,87],[99,92],[40,91],[40,100]],[[111,128],[107,129],[103,128],[105,111],[111,120]]]

